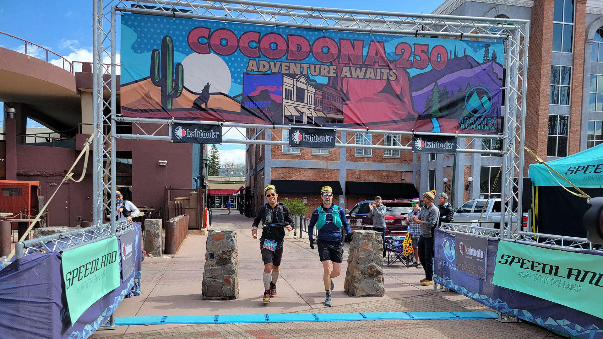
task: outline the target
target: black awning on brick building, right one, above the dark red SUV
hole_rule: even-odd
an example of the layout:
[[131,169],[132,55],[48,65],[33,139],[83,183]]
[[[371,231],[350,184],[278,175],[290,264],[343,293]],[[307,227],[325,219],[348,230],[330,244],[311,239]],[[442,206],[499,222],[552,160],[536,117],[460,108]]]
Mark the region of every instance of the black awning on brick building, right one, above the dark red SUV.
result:
[[409,199],[419,196],[412,183],[402,182],[346,182],[346,195],[379,195],[384,199]]

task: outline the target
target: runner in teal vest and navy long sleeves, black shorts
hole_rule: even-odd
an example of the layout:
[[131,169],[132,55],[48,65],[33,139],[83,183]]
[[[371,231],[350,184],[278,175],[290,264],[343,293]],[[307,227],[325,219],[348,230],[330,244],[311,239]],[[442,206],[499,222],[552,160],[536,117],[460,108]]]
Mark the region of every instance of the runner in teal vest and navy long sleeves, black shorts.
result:
[[[333,279],[341,274],[341,262],[343,262],[343,247],[341,246],[341,227],[346,227],[346,234],[352,233],[347,223],[344,209],[333,204],[333,189],[324,186],[320,189],[323,203],[312,212],[308,224],[308,238],[310,248],[314,250],[314,226],[318,229],[318,256],[323,263],[324,305],[331,306],[331,291],[333,290]],[[333,268],[331,268],[333,264]]]

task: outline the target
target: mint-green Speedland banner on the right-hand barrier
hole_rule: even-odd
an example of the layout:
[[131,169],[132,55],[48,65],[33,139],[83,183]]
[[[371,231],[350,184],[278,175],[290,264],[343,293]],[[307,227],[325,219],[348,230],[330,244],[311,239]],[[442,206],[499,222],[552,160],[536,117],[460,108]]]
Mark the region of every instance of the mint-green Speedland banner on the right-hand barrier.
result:
[[500,241],[493,284],[603,318],[603,259]]

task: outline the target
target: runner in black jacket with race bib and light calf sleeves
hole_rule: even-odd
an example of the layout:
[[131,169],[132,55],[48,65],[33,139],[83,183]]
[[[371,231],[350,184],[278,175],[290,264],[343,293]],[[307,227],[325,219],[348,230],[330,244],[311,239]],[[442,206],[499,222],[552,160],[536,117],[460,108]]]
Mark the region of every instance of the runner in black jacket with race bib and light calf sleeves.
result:
[[[257,210],[256,217],[251,226],[251,236],[257,239],[257,225],[262,221],[262,225],[286,224],[286,229],[291,232],[293,220],[289,208],[276,199],[276,188],[268,185],[264,189],[264,195],[268,203]],[[270,302],[270,298],[276,298],[276,280],[279,279],[280,261],[283,257],[283,243],[285,242],[285,229],[282,225],[271,227],[262,227],[262,236],[260,236],[260,252],[262,261],[264,261],[264,297],[265,303]]]

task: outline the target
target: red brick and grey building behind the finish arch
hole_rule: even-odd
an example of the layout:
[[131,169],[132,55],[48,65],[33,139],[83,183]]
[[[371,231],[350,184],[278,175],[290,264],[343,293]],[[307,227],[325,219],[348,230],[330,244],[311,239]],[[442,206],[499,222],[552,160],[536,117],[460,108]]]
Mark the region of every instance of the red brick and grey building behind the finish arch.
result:
[[[433,14],[531,20],[526,146],[543,159],[554,160],[603,142],[603,1],[446,0]],[[504,106],[502,115],[505,115]],[[279,138],[280,133],[283,132],[274,131]],[[338,136],[341,140],[353,137],[347,134]],[[270,131],[262,136],[270,137]],[[366,135],[366,138],[378,141],[384,135]],[[386,145],[397,145],[397,142],[406,145],[410,141],[405,136],[397,140],[399,136],[385,138]],[[355,138],[356,144],[365,141],[361,135]],[[458,145],[500,149],[499,141],[489,139],[459,138]],[[305,180],[308,187],[313,181],[338,183],[344,198],[341,201],[345,203],[339,202],[339,196],[335,201],[346,208],[376,194],[408,198],[408,186],[404,184],[414,185],[418,192],[435,189],[449,195],[452,184],[455,186],[454,207],[460,207],[464,201],[480,198],[488,192],[499,193],[496,178],[500,181],[502,177],[502,174],[497,176],[502,157],[488,154],[459,153],[455,177],[452,155],[410,151],[361,148],[326,151],[251,145],[247,147],[246,161],[248,186],[254,192],[252,206],[264,203],[262,189],[274,180]],[[526,175],[529,163],[534,160],[526,156]],[[381,188],[379,183],[389,186]],[[279,195],[301,197],[303,194],[289,195],[282,191]],[[308,197],[309,206],[320,203],[317,193],[303,197]]]

